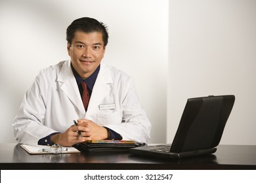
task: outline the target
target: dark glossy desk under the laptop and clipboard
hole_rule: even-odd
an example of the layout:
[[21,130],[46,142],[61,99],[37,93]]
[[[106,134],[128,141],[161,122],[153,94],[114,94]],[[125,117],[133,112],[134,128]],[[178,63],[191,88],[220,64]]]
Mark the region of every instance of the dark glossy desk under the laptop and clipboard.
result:
[[219,145],[215,154],[187,159],[156,159],[129,152],[30,155],[20,144],[0,144],[4,169],[256,169],[256,146]]

